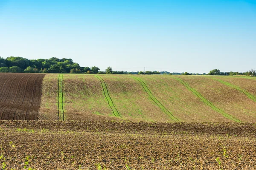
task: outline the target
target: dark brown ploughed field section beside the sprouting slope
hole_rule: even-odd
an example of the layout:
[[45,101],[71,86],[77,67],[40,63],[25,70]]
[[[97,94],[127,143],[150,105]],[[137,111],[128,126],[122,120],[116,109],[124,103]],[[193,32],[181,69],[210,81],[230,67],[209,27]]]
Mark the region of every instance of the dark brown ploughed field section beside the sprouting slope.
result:
[[0,74],[0,119],[37,120],[45,74]]

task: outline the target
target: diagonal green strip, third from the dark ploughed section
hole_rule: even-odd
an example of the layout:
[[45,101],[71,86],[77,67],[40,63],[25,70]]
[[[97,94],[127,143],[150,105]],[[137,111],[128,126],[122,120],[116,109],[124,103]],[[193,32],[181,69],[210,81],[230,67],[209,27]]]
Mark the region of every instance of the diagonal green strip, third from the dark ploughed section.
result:
[[172,115],[172,113],[170,111],[168,111],[158,100],[157,98],[151,93],[151,91],[148,89],[148,86],[145,84],[145,82],[143,82],[142,79],[138,78],[138,77],[134,77],[134,79],[137,79],[140,84],[142,85],[142,87],[144,88],[144,90],[146,91],[146,93],[148,94],[148,96],[150,96],[150,98],[158,105],[158,107],[164,112],[166,113],[167,116],[169,116],[170,119],[172,119],[174,122],[180,122],[175,116]]

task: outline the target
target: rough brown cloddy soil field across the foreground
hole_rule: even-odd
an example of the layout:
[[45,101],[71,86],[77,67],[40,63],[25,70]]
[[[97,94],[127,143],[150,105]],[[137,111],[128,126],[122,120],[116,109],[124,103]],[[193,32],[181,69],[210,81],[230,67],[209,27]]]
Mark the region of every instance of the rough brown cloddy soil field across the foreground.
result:
[[253,123],[0,121],[3,169],[256,169]]

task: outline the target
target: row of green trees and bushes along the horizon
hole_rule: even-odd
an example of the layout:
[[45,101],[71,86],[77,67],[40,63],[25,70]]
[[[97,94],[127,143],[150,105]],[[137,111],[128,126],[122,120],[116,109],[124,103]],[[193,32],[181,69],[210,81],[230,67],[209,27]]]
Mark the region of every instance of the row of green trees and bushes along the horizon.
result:
[[221,72],[218,69],[211,70],[208,74],[195,73],[170,73],[168,71],[113,71],[108,67],[105,71],[100,71],[96,66],[81,67],[78,63],[73,62],[73,59],[58,59],[52,57],[50,59],[26,59],[23,57],[0,57],[0,72],[2,73],[73,73],[73,74],[175,74],[175,75],[246,75],[256,76],[256,71],[240,72]]

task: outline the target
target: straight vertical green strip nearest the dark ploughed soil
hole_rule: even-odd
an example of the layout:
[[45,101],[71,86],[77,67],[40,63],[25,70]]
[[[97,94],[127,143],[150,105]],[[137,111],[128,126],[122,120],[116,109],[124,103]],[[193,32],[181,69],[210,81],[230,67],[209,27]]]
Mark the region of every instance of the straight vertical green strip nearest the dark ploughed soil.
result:
[[58,76],[58,120],[64,119],[63,74]]

